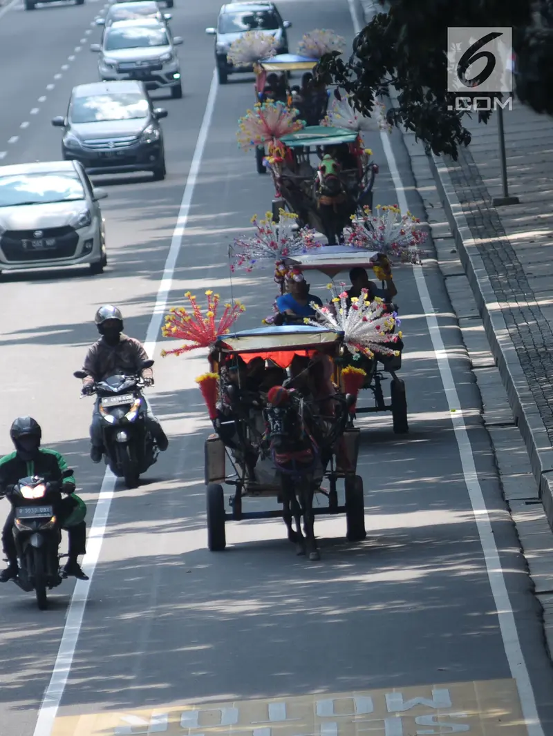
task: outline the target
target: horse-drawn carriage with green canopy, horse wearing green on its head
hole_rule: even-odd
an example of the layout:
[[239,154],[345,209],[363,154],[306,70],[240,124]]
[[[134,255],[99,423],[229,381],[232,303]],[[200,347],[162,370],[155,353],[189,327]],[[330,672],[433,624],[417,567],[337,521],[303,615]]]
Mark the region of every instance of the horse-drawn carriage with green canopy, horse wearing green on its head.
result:
[[298,224],[324,233],[329,244],[341,239],[352,215],[372,208],[378,166],[357,131],[324,125],[283,135],[282,148],[268,158],[273,175],[274,218],[282,208]]

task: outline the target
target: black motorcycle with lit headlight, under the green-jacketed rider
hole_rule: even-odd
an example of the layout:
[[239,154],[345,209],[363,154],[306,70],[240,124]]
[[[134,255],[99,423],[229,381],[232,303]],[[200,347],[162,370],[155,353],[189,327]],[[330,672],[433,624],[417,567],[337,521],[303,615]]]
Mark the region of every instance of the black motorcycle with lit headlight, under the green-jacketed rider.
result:
[[[64,477],[73,475],[66,470]],[[61,500],[60,485],[44,478],[21,478],[6,493],[15,509],[13,539],[18,556],[19,573],[14,579],[25,592],[35,591],[38,608],[48,607],[46,589],[58,587],[63,580],[60,570],[61,527],[55,507]]]

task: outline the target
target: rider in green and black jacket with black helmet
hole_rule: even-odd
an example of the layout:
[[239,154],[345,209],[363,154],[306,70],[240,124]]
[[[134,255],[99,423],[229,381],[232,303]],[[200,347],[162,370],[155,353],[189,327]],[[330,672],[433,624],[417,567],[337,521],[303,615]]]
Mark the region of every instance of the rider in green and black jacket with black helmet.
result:
[[[21,478],[39,475],[46,482],[60,484],[60,492],[66,496],[55,506],[55,514],[60,526],[69,534],[69,561],[63,568],[64,576],[72,575],[80,580],[88,580],[78,563],[78,557],[86,554],[86,523],[81,520],[72,526],[64,527],[77,506],[84,505],[83,500],[74,495],[75,480],[73,475],[66,475],[69,470],[63,456],[56,450],[41,447],[42,430],[32,417],[18,417],[14,420],[10,437],[15,445],[15,452],[0,459],[0,494],[6,495]],[[5,583],[18,576],[17,553],[13,539],[13,520],[15,509],[8,514],[2,530],[2,545],[7,556],[8,566],[0,573],[0,582]]]

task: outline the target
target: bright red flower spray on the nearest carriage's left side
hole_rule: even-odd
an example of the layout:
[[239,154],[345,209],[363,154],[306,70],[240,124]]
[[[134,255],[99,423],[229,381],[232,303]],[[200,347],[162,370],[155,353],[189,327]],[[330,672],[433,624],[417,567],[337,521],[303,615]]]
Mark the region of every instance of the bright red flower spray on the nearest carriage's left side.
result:
[[217,310],[219,305],[219,294],[213,294],[209,289],[206,291],[207,311],[204,314],[196,302],[196,297],[187,291],[184,294],[190,302],[191,311],[184,307],[172,307],[170,313],[165,317],[165,324],[161,328],[164,337],[173,337],[188,340],[192,344],[177,347],[175,350],[163,350],[161,355],[182,355],[196,347],[209,347],[218,335],[229,333],[231,326],[236,322],[240,314],[246,311],[246,307],[238,301],[225,305],[225,311],[217,322]]

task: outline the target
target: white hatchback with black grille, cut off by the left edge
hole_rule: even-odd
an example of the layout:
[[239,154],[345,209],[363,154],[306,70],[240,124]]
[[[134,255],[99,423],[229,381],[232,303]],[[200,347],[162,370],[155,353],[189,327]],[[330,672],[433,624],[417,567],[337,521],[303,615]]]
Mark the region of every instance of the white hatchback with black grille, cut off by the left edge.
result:
[[0,166],[0,272],[108,263],[99,199],[78,161]]

